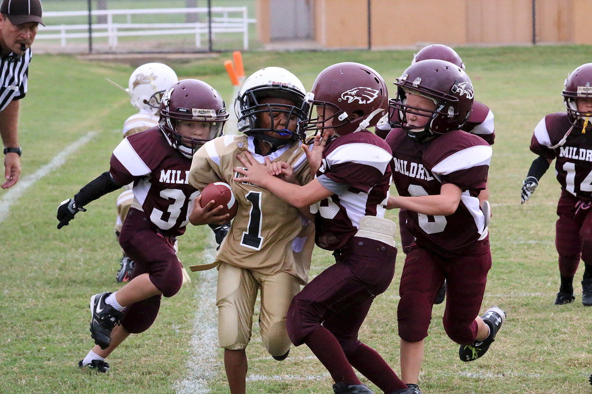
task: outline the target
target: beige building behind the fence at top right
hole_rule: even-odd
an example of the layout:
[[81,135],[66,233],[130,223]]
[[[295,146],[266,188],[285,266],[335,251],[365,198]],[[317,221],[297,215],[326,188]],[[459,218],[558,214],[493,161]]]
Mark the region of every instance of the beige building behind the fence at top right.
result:
[[592,44],[592,0],[256,0],[270,47]]

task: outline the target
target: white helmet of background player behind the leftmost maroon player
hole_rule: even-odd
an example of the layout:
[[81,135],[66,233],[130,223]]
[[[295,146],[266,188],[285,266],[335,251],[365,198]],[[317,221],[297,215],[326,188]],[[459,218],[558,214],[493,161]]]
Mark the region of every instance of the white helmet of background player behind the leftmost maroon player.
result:
[[178,80],[175,71],[166,64],[146,63],[131,73],[126,92],[130,94],[131,105],[156,115],[165,90]]

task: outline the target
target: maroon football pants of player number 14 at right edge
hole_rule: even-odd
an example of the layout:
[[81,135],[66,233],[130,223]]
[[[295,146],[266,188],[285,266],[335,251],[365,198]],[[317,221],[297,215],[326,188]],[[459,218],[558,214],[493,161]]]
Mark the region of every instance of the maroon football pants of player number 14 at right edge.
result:
[[573,277],[580,265],[592,264],[592,208],[577,197],[562,191],[555,223],[555,248],[559,253],[559,273]]

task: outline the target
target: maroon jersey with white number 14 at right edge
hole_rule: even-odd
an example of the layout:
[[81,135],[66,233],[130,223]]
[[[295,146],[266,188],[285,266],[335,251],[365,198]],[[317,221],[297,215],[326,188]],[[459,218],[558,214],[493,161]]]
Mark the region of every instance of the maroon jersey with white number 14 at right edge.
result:
[[[574,127],[565,144],[552,148],[571,128],[567,112],[550,113],[536,125],[530,150],[555,160],[555,172],[561,190],[581,200],[592,200],[592,136]],[[590,133],[590,132],[588,132]]]

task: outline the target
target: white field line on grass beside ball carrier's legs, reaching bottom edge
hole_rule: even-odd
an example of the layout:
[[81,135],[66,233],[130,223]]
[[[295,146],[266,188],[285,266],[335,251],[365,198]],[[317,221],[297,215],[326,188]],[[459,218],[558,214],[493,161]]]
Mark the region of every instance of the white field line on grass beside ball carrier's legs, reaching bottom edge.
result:
[[[204,250],[202,260],[214,261],[214,247]],[[200,272],[200,282],[195,292],[198,310],[194,319],[194,334],[191,337],[191,355],[186,366],[189,376],[177,382],[178,394],[208,394],[208,382],[217,375],[214,366],[221,361],[217,357],[218,330],[216,310],[216,269]]]

